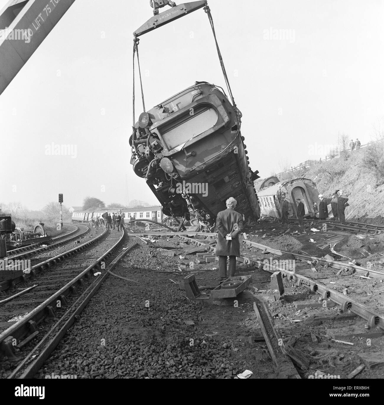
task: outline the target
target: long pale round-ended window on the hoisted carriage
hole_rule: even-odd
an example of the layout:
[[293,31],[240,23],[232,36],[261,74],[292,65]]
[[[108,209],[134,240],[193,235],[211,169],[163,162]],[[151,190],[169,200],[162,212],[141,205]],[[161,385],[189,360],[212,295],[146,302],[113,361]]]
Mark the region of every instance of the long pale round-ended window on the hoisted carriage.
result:
[[204,106],[203,109],[193,111],[192,114],[191,111],[187,111],[158,129],[168,149],[173,149],[187,142],[193,136],[212,128],[218,118],[216,109]]

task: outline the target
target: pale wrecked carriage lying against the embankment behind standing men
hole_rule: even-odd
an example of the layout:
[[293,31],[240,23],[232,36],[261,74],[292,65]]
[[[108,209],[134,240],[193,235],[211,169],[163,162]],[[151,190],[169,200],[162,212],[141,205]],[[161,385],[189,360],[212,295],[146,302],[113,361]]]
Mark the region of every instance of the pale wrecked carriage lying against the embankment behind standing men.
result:
[[[264,183],[268,184],[266,181]],[[264,183],[262,183],[262,186]],[[264,187],[262,190],[259,190],[257,194],[263,215],[281,218],[282,204],[285,197],[289,199],[289,216],[297,217],[296,198],[300,198],[304,204],[304,217],[314,218],[316,217],[316,213],[318,213],[320,201],[318,198],[318,190],[316,183],[310,179],[297,178],[280,181],[268,187]]]

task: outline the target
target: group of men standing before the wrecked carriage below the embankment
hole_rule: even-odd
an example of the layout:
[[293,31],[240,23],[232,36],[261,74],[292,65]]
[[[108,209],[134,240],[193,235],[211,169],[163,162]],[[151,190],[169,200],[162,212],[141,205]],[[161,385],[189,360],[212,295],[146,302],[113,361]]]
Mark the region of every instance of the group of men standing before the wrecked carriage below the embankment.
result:
[[[331,209],[333,213],[333,220],[340,221],[342,224],[345,224],[345,209],[348,207],[348,198],[343,196],[343,190],[336,190],[331,198],[325,198],[322,194],[319,194],[320,203],[318,206],[319,220],[325,221],[329,217],[328,205],[331,204]],[[296,198],[297,203],[297,218],[299,219],[299,225],[304,225],[304,214],[305,208],[304,204],[301,201],[301,198]],[[317,208],[316,203],[314,207]],[[316,209],[317,211],[317,209]],[[282,204],[282,224],[288,224],[288,213],[289,213],[289,199],[288,197],[284,198]]]

